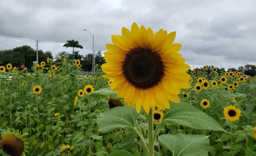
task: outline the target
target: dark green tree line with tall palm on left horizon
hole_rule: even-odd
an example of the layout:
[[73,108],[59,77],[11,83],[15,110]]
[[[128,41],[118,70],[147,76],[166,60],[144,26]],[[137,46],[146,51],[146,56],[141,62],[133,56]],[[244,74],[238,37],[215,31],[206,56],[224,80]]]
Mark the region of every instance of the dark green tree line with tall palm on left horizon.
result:
[[[78,41],[69,40],[63,45],[63,47],[73,48],[73,53],[69,54],[66,51],[62,51],[55,55],[55,57],[53,57],[51,51],[38,50],[38,62],[46,62],[47,58],[55,59],[55,62],[60,62],[61,55],[65,55],[66,59],[79,59],[81,61],[82,70],[92,71],[93,55],[80,55],[79,51],[75,51],[75,48],[83,48]],[[33,66],[33,61],[36,61],[36,50],[27,45],[0,51],[0,66],[6,66],[7,63],[11,63],[12,66],[20,67],[21,65],[25,65],[25,67],[31,69],[31,67]],[[101,55],[101,51],[98,51],[95,54],[95,64],[101,65],[103,63],[105,63],[105,59]]]

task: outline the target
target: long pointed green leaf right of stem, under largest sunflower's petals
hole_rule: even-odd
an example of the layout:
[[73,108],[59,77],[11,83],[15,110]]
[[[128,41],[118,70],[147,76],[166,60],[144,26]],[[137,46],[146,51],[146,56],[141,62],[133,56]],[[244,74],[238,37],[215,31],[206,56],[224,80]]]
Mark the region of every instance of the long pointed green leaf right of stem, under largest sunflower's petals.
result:
[[228,133],[212,117],[186,102],[179,104],[170,102],[170,106],[171,109],[163,111],[163,120],[165,122],[176,123],[195,129],[221,130]]

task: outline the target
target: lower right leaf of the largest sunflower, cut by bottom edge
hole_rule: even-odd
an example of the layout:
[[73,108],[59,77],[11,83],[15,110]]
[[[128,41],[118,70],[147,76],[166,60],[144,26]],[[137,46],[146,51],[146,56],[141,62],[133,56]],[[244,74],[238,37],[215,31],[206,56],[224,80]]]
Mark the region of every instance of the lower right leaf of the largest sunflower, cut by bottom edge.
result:
[[160,144],[170,150],[173,156],[208,156],[209,136],[202,135],[161,135]]

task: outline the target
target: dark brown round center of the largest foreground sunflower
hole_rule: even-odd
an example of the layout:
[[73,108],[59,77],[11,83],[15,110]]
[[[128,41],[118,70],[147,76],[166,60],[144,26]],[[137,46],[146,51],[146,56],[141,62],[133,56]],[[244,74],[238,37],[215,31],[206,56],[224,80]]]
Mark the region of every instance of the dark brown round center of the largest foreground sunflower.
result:
[[162,59],[150,48],[131,49],[125,56],[122,70],[126,80],[140,89],[154,87],[164,76]]

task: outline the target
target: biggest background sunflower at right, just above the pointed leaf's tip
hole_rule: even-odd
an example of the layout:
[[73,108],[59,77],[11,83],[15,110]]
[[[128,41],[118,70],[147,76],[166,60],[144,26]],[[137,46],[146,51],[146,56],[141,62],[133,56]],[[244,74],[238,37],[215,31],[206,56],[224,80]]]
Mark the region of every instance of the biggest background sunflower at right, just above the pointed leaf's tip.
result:
[[224,108],[223,114],[225,118],[229,121],[236,121],[241,116],[241,111],[236,108],[236,106],[229,105]]

